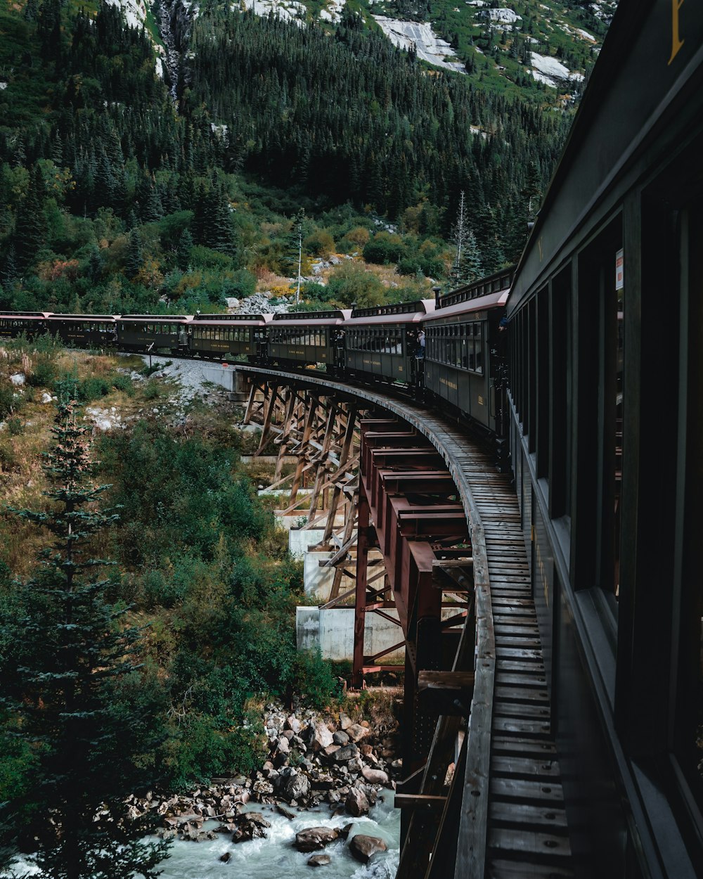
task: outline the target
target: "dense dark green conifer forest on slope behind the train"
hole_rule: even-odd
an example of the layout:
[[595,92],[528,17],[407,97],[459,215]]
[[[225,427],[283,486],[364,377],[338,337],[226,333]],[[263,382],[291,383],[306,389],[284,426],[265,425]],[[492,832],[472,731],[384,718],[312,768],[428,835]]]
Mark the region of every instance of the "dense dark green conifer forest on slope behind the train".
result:
[[210,0],[178,34],[174,99],[150,25],[0,11],[0,307],[221,309],[294,273],[301,210],[308,258],[395,265],[392,293],[417,297],[448,276],[460,193],[476,271],[518,257],[569,124],[544,88],[430,70],[349,9],[323,30]]

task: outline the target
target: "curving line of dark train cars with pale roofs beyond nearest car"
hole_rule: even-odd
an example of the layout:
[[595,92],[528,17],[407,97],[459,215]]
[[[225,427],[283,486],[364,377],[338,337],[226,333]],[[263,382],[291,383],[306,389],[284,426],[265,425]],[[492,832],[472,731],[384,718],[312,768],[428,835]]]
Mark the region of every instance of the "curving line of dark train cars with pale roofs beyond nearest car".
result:
[[513,269],[450,294],[369,308],[236,315],[66,315],[0,312],[0,340],[49,333],[97,350],[166,353],[382,383],[441,400],[487,434],[507,411],[501,345]]

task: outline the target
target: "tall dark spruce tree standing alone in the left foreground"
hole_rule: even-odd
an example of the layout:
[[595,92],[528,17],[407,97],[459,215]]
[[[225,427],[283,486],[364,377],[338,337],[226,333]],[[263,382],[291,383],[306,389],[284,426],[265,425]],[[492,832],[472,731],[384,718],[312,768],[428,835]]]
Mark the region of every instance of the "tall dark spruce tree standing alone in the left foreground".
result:
[[29,794],[0,807],[0,848],[33,851],[42,879],[152,879],[168,846],[141,841],[154,820],[134,817],[126,800],[154,781],[142,766],[160,740],[158,696],[142,686],[134,697],[139,631],[109,600],[110,582],[91,577],[105,564],[91,538],[117,516],[96,508],[107,486],[94,483],[75,400],[59,405],[53,434],[49,509],[12,511],[52,540],[17,585],[14,613],[4,605],[0,616],[0,715],[12,717],[3,731],[33,754]]

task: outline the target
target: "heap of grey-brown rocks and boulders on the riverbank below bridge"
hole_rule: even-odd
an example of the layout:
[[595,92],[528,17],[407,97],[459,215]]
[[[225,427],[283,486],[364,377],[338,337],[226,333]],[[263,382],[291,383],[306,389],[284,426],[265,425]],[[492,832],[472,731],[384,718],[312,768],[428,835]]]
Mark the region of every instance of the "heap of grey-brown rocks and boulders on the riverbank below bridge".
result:
[[257,771],[189,795],[134,796],[131,810],[134,816],[151,810],[163,816],[163,838],[227,842],[226,861],[230,844],[267,839],[274,817],[277,825],[279,819],[295,825],[292,845],[309,854],[309,866],[326,865],[325,850],[333,845],[368,863],[386,852],[388,843],[383,836],[359,832],[355,821],[366,818],[377,803],[388,810],[393,802],[394,779],[402,770],[395,758],[395,726],[391,718],[372,727],[344,712],[287,713],[269,705],[264,716],[268,759]]

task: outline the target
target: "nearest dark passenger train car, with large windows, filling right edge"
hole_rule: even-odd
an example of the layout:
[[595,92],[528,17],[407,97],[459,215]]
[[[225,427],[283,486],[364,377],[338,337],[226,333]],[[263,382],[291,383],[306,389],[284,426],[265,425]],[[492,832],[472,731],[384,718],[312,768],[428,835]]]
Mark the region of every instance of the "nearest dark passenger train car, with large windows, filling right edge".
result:
[[703,4],[621,0],[507,302],[586,876],[703,875]]

